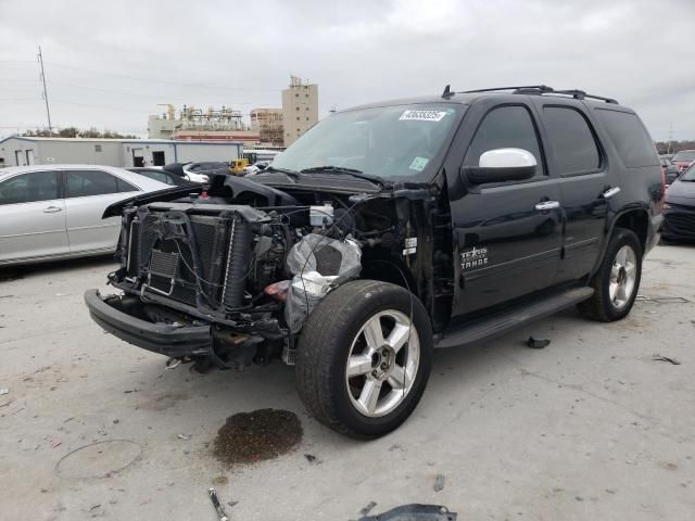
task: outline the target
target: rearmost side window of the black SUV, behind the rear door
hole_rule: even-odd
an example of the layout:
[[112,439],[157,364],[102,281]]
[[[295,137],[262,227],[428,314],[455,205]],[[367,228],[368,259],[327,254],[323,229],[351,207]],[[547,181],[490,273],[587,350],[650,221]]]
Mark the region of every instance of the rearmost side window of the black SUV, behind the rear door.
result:
[[659,165],[654,142],[635,114],[605,109],[596,114],[628,168]]

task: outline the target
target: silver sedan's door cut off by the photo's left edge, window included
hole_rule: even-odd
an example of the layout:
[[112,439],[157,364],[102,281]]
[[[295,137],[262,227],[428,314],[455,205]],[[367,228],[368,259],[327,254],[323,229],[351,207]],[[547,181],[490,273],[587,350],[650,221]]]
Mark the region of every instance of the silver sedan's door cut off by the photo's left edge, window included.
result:
[[68,252],[59,173],[29,171],[0,181],[0,263]]

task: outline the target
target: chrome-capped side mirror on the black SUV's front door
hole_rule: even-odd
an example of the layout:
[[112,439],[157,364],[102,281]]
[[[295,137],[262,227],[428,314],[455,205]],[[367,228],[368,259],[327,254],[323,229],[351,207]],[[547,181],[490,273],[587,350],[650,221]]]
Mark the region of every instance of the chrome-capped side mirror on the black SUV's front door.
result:
[[464,167],[464,174],[473,185],[523,181],[536,173],[535,157],[523,149],[489,150],[480,156],[478,166]]

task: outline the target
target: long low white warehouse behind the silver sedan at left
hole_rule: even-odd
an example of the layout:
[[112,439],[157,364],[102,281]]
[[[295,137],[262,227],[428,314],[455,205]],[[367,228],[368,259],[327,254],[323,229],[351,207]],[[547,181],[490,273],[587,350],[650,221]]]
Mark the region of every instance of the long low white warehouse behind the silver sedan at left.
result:
[[169,141],[164,139],[25,138],[0,140],[0,167],[43,164],[91,164],[119,167],[162,166],[189,161],[241,157],[241,142]]

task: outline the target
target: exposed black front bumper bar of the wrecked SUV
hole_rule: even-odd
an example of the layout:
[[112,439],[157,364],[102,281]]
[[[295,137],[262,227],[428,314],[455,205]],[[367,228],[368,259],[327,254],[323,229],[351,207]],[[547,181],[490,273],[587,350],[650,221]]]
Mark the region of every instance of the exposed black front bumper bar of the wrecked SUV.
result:
[[110,306],[99,290],[85,292],[89,315],[104,331],[143,350],[173,358],[208,355],[212,346],[210,326],[152,323]]

